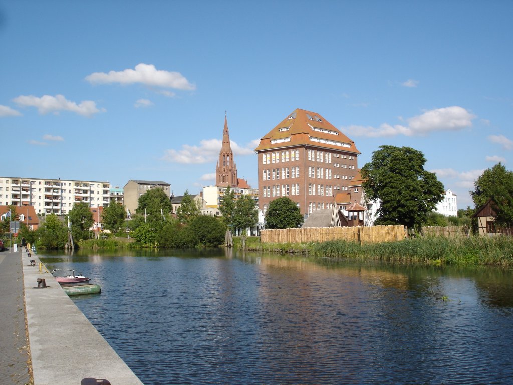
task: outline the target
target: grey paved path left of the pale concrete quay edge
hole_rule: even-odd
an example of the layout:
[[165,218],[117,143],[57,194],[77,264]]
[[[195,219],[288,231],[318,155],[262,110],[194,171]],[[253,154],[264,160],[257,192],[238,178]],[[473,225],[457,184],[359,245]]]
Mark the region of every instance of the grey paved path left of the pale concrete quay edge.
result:
[[22,253],[0,252],[0,383],[29,382]]

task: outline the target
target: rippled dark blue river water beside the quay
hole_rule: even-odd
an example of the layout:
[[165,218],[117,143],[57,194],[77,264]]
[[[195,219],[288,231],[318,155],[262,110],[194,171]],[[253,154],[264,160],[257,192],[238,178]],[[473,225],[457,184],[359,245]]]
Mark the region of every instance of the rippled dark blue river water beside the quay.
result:
[[513,272],[219,251],[39,255],[145,383],[513,383]]

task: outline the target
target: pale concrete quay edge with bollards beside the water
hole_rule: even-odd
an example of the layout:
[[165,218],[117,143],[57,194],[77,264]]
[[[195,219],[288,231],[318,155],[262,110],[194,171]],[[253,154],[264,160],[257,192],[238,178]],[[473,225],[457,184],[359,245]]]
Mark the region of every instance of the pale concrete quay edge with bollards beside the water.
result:
[[[143,385],[37,256],[21,254],[34,385]],[[37,278],[48,287],[36,288]]]

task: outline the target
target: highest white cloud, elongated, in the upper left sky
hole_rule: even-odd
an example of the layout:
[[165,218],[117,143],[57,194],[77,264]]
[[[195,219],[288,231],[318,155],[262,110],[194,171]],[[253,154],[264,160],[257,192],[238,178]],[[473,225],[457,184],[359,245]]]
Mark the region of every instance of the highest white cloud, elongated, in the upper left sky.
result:
[[147,86],[175,88],[181,90],[194,90],[196,87],[180,73],[174,71],[157,70],[153,64],[140,63],[135,69],[123,71],[94,72],[86,76],[91,84],[135,84]]

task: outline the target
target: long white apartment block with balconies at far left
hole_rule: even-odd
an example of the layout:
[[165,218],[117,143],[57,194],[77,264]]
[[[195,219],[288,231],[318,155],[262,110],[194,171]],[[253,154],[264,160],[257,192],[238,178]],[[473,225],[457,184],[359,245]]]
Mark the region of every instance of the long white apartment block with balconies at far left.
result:
[[108,205],[109,182],[0,177],[0,204],[34,206],[36,214],[67,214],[73,204]]

